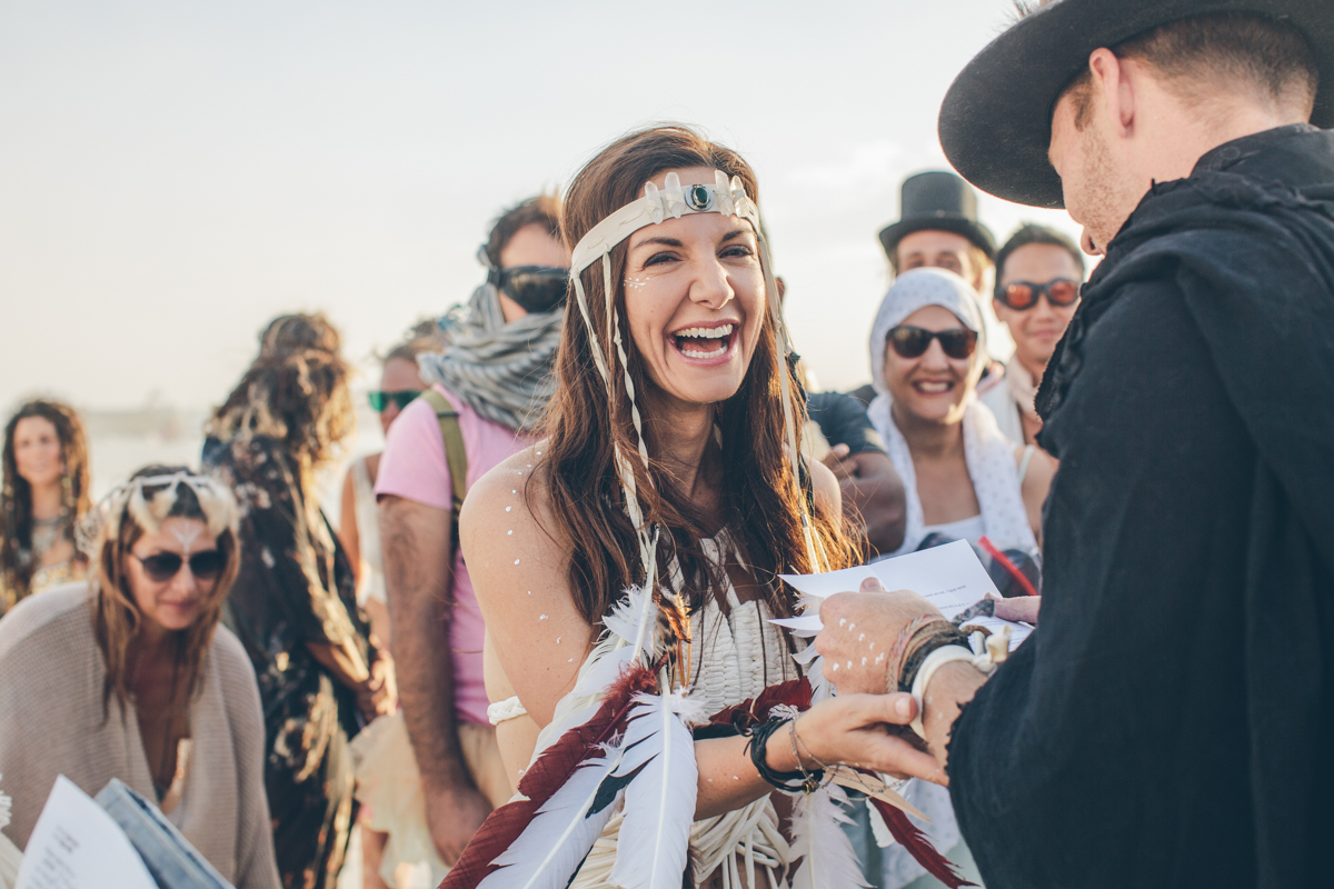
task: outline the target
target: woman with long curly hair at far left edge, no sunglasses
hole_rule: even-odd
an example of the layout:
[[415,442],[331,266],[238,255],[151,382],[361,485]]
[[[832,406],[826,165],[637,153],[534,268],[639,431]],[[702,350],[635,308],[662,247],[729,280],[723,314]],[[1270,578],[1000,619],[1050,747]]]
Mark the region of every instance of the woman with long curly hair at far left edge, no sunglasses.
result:
[[19,408],[4,431],[3,473],[0,614],[87,572],[73,532],[89,506],[88,446],[73,408],[47,399]]

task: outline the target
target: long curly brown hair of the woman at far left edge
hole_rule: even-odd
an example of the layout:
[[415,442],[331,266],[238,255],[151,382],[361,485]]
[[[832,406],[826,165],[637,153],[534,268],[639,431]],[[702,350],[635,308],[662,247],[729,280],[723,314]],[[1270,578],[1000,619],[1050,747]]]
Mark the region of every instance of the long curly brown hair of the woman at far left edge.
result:
[[41,417],[56,428],[60,439],[60,460],[64,464],[61,480],[61,512],[65,532],[73,541],[73,528],[79,517],[88,512],[88,445],[83,424],[69,405],[35,399],[24,404],[4,428],[4,481],[0,489],[0,614],[28,594],[28,585],[36,570],[32,550],[32,485],[19,474],[13,436],[19,423],[28,417]]

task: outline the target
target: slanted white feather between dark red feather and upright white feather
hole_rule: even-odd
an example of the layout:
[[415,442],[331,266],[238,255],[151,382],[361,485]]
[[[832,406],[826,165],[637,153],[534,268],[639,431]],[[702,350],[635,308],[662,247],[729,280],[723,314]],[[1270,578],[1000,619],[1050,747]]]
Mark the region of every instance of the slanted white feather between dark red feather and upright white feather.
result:
[[588,814],[603,778],[622,761],[624,748],[603,746],[602,758],[575,769],[547,802],[538,809],[519,838],[495,858],[499,870],[478,889],[564,889],[570,885],[594,841],[607,826],[618,800]]

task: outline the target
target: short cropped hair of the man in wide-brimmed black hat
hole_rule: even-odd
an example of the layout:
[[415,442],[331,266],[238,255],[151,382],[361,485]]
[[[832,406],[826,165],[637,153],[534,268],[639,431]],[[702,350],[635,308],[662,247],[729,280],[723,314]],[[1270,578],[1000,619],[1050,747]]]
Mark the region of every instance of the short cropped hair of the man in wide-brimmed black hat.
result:
[[[1135,35],[1113,52],[1147,63],[1181,97],[1199,97],[1201,87],[1215,85],[1275,105],[1298,104],[1306,117],[1315,105],[1319,71],[1302,32],[1257,12],[1181,19]],[[1086,128],[1093,112],[1091,72],[1086,68],[1066,92],[1074,101],[1075,128]]]

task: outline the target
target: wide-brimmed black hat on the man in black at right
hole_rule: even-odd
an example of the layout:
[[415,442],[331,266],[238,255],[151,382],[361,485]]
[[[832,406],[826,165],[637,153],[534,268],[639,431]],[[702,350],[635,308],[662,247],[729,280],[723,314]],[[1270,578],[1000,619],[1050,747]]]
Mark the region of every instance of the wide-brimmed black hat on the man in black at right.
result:
[[1311,123],[1334,127],[1334,3],[1330,0],[1059,0],[1021,19],[954,80],[940,105],[940,147],[984,192],[1065,207],[1047,160],[1051,111],[1099,47],[1211,12],[1254,12],[1306,37],[1319,69]]

